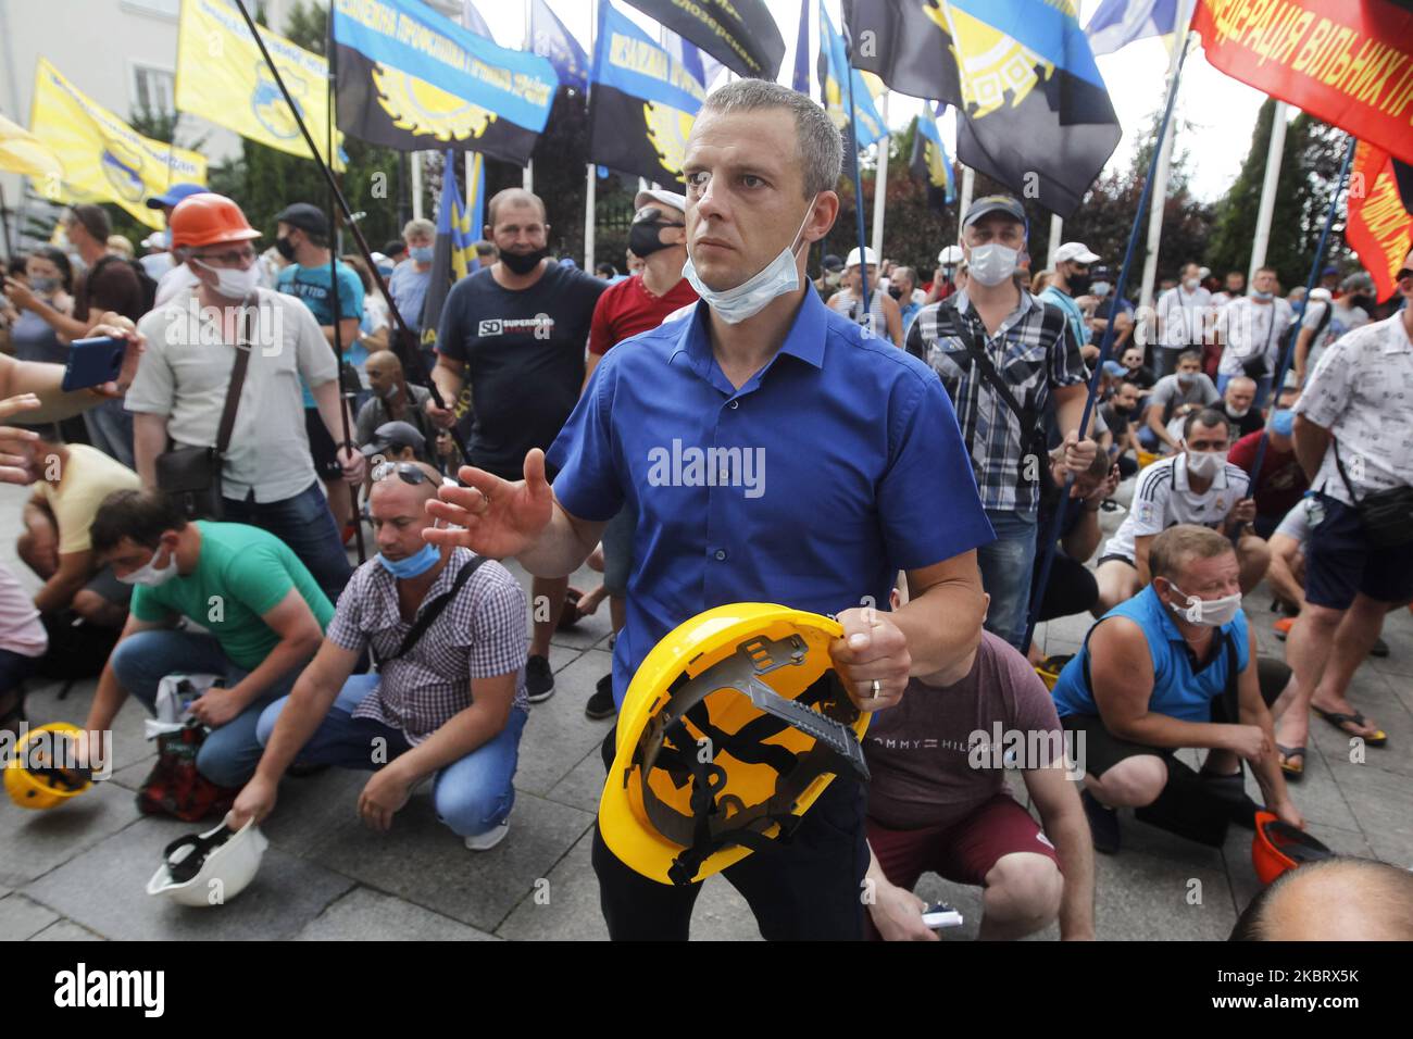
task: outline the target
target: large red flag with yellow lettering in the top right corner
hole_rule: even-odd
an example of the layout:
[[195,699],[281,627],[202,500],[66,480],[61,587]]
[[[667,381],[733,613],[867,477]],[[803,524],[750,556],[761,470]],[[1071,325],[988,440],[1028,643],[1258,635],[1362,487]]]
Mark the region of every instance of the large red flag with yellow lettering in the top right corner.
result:
[[1200,0],[1207,61],[1413,163],[1413,13],[1390,0]]

